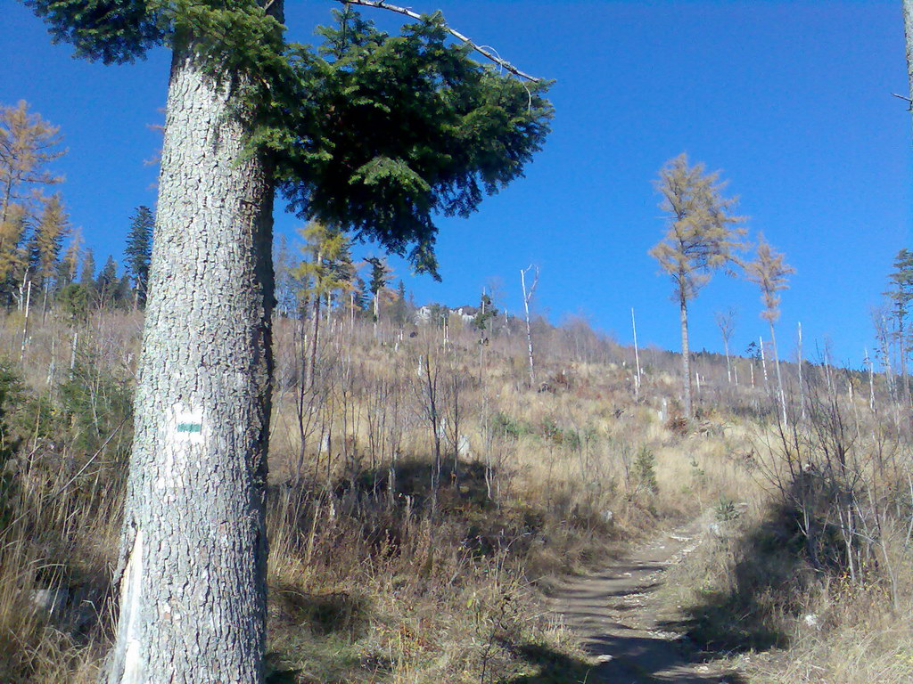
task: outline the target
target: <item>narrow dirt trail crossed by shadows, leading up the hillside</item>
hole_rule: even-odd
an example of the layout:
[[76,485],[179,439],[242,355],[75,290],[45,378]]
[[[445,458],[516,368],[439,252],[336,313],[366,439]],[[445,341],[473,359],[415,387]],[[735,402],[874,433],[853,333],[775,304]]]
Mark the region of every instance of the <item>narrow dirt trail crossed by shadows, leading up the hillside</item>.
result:
[[687,640],[660,627],[656,589],[665,581],[666,568],[700,544],[701,528],[696,520],[662,534],[602,572],[572,579],[555,592],[552,610],[601,661],[591,673],[591,684],[596,675],[609,684],[742,681],[705,664]]

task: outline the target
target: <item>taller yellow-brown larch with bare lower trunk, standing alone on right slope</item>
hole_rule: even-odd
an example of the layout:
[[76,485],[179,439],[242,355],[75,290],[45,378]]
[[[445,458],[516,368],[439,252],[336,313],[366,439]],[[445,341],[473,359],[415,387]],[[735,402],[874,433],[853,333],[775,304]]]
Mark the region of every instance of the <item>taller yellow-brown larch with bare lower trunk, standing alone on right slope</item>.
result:
[[704,164],[689,166],[686,154],[667,161],[659,171],[659,208],[666,213],[666,235],[650,250],[664,273],[672,278],[682,335],[683,399],[687,419],[691,405],[691,359],[688,351],[687,304],[707,285],[710,275],[734,263],[745,231],[732,213],[734,198],[722,196],[725,183],[719,171],[707,173]]

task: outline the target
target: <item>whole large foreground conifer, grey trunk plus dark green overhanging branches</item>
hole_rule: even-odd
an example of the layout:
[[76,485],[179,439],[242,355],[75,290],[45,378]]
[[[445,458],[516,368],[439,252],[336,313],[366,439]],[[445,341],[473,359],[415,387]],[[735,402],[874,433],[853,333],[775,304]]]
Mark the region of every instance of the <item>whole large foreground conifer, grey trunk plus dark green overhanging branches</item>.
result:
[[522,174],[548,84],[439,14],[387,36],[346,5],[315,54],[282,0],[26,2],[80,57],[173,51],[109,681],[261,682],[274,188],[435,273],[434,216]]

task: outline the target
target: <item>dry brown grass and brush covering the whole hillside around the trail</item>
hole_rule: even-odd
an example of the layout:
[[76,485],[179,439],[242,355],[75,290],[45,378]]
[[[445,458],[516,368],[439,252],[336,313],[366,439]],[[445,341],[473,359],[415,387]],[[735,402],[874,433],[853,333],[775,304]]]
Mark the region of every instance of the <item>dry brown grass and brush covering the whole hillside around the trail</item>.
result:
[[[0,681],[88,682],[141,316],[49,314],[20,362],[22,323],[0,326]],[[642,350],[635,396],[633,350],[581,321],[535,326],[536,387],[512,322],[482,344],[456,318],[333,317],[312,380],[309,329],[276,324],[270,681],[581,682],[593,663],[542,592],[708,511],[666,604],[709,658],[758,681],[910,679],[908,416],[885,378],[873,410],[867,378],[809,365],[783,425],[760,365],[752,388],[735,359],[735,387],[698,355],[688,424],[675,355]]]

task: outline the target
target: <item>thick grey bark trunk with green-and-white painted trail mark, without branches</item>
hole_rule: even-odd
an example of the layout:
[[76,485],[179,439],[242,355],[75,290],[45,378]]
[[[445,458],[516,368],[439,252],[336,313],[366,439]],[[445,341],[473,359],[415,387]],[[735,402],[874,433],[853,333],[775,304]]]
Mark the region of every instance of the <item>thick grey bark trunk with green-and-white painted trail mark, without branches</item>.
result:
[[110,684],[263,681],[273,183],[237,79],[175,52]]

